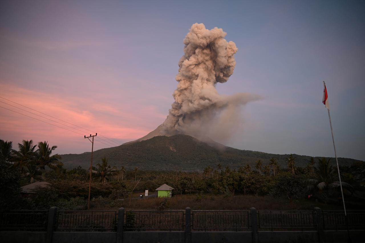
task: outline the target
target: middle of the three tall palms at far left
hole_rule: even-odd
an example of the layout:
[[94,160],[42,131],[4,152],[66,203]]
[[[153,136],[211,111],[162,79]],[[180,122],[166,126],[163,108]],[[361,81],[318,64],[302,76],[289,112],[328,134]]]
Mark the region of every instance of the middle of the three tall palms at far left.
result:
[[33,145],[33,140],[23,140],[21,144],[18,143],[19,150],[13,150],[12,160],[15,162],[13,167],[23,169],[23,166],[28,163],[36,163],[35,147],[36,145]]

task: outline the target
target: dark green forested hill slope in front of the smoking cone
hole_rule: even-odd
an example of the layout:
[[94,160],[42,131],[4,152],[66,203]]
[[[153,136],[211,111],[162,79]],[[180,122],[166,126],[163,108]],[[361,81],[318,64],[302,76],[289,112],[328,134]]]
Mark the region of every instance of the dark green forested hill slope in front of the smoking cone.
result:
[[[90,166],[91,152],[61,156],[62,162],[68,169],[78,165],[85,169]],[[276,158],[280,167],[287,167],[285,159],[288,156],[287,154],[268,154],[231,147],[217,149],[191,136],[178,134],[169,137],[155,136],[141,142],[94,151],[93,165],[100,163],[101,158],[106,157],[111,165],[118,167],[123,165],[127,169],[138,167],[140,170],[202,171],[207,166],[216,168],[219,163],[223,167],[239,168],[250,164],[254,168],[255,161],[258,159],[261,159],[266,165],[270,158]],[[306,166],[311,158],[304,155],[294,155],[294,157],[297,158],[296,165],[301,167]],[[340,165],[350,166],[356,161],[355,159],[338,158]]]

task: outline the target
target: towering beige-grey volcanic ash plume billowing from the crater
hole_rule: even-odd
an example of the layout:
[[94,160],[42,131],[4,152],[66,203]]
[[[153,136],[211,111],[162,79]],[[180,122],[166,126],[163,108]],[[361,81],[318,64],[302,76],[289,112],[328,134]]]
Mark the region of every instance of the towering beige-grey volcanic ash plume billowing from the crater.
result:
[[230,134],[227,130],[238,122],[239,105],[260,99],[247,93],[218,94],[215,85],[227,82],[233,74],[234,54],[238,51],[234,42],[224,39],[226,34],[217,27],[207,30],[204,24],[192,25],[184,39],[184,55],[178,63],[175,102],[160,126],[161,135],[227,136]]

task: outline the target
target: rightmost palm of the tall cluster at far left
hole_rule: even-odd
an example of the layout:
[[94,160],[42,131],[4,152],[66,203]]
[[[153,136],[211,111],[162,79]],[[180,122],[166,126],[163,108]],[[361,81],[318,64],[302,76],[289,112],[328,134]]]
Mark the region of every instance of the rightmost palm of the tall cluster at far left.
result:
[[45,166],[48,166],[49,168],[53,170],[58,171],[59,166],[63,166],[64,164],[59,161],[61,159],[61,156],[59,154],[52,155],[52,151],[55,150],[57,146],[49,147],[48,142],[39,142],[38,143],[38,150],[37,152],[37,163],[38,166],[41,169],[45,169]]

